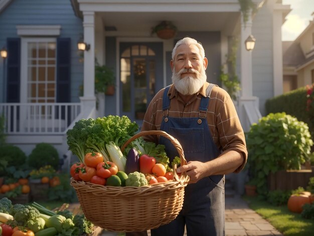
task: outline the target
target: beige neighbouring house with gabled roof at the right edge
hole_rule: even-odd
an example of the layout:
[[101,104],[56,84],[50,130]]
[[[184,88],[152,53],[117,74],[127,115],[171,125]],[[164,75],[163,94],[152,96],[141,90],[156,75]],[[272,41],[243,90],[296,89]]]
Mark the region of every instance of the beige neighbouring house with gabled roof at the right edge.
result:
[[314,20],[293,41],[282,42],[283,92],[314,83]]

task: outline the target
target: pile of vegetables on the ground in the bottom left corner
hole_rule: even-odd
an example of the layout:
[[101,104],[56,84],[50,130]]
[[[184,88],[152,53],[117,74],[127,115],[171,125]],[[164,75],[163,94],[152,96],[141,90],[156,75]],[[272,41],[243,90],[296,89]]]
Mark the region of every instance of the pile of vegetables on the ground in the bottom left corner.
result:
[[54,212],[36,202],[12,204],[6,197],[0,199],[0,221],[3,236],[79,236],[91,233],[94,226],[83,214]]

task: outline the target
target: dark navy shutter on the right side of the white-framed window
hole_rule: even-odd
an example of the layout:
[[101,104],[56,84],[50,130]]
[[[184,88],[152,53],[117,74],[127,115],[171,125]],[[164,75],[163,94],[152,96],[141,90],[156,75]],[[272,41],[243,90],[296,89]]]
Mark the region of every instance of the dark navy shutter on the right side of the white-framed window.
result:
[[57,102],[70,102],[71,39],[57,39]]

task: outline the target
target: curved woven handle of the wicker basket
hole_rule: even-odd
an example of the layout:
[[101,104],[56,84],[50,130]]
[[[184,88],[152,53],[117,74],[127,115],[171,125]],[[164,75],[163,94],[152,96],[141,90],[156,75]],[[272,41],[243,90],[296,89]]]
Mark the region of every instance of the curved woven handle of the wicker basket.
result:
[[[133,140],[142,137],[142,136],[146,136],[146,135],[159,135],[159,136],[163,136],[167,139],[170,140],[170,142],[174,145],[174,147],[177,149],[179,156],[180,156],[180,163],[181,166],[186,165],[187,164],[187,160],[184,157],[184,153],[183,153],[183,148],[181,146],[181,144],[179,143],[179,141],[177,139],[175,139],[174,137],[172,137],[171,135],[169,135],[168,133],[166,133],[165,131],[155,131],[155,130],[151,130],[151,131],[141,131],[137,134],[135,134],[134,136],[132,136],[128,141],[126,141],[122,147],[121,147],[121,152],[123,153],[124,149],[126,148],[127,145],[129,145]],[[174,167],[174,178],[183,183],[183,182],[188,182],[189,181],[189,176],[186,174],[186,172],[183,172],[179,178],[178,174],[177,174],[177,165],[175,165]]]

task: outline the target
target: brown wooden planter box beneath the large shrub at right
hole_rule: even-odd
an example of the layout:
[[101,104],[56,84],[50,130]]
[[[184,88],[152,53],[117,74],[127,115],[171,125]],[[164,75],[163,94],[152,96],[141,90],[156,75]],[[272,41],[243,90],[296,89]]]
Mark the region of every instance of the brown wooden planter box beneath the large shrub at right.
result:
[[293,190],[298,187],[306,188],[310,177],[314,176],[312,170],[281,170],[269,174],[268,190]]

